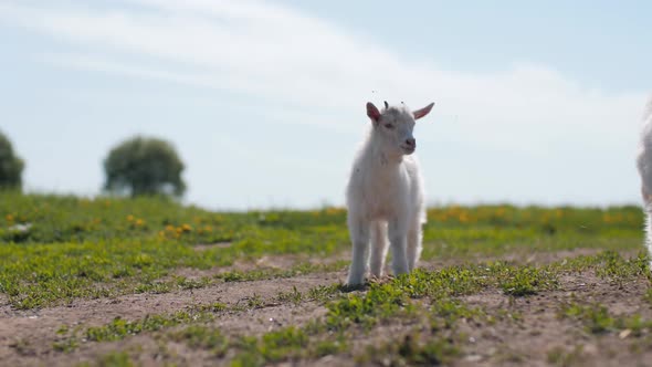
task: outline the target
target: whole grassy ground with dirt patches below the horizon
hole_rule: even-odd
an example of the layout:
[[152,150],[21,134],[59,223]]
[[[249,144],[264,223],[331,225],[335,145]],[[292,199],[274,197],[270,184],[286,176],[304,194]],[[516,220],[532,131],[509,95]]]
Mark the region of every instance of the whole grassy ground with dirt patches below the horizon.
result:
[[0,361],[652,360],[637,207],[429,210],[420,269],[349,290],[346,212],[0,193]]

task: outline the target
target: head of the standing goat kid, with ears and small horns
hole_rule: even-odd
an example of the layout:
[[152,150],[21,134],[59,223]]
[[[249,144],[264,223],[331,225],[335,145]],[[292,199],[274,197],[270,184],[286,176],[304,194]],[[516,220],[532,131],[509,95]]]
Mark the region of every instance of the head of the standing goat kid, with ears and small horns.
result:
[[367,102],[367,116],[374,124],[374,134],[380,136],[389,149],[411,155],[417,149],[417,140],[412,135],[414,122],[428,115],[432,106],[434,103],[411,112],[402,103],[399,107],[390,107],[385,102],[385,108],[380,112],[371,102]]

